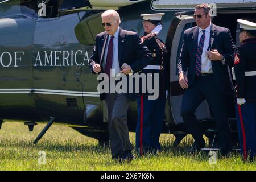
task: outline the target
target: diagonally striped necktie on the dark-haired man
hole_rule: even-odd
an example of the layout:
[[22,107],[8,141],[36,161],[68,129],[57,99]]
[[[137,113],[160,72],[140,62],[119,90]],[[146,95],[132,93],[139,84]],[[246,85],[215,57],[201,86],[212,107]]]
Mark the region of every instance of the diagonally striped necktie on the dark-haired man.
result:
[[201,74],[201,65],[202,65],[202,52],[204,48],[204,39],[205,39],[205,30],[202,30],[203,34],[201,35],[201,38],[199,40],[199,44],[197,46],[196,51],[196,75],[199,76]]

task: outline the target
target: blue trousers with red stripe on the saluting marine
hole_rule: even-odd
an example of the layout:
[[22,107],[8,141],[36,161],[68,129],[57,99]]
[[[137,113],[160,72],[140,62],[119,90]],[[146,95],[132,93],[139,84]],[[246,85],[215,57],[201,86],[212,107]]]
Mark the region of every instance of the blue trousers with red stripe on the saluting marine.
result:
[[163,129],[164,108],[166,98],[148,100],[147,96],[139,96],[138,120],[136,127],[136,149],[139,154],[160,150],[159,137]]

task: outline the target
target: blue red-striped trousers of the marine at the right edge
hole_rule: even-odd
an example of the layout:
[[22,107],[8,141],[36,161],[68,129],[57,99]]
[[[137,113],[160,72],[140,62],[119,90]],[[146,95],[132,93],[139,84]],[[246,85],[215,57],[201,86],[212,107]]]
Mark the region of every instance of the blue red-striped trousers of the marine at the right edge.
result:
[[237,129],[243,158],[256,157],[256,103],[236,104]]

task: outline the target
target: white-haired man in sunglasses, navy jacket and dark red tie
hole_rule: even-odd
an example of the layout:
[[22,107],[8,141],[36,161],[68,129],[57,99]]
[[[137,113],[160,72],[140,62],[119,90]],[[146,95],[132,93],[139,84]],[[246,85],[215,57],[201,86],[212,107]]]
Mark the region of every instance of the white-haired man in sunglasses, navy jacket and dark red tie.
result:
[[[110,79],[118,74],[141,71],[151,61],[150,51],[135,32],[122,30],[119,14],[107,10],[101,15],[105,32],[96,36],[96,46],[89,59],[92,73],[105,73]],[[112,69],[110,71],[110,69]],[[108,81],[111,82],[111,81]],[[110,86],[112,86],[110,84]],[[125,93],[101,93],[109,114],[109,139],[113,159],[133,159],[129,140],[127,111],[129,97]]]

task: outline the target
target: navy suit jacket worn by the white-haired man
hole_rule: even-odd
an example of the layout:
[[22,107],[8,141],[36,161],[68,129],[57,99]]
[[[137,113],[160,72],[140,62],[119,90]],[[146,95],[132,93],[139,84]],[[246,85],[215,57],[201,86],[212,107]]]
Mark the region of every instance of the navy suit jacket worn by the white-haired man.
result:
[[[93,71],[93,65],[96,63],[101,65],[101,73],[104,72],[102,64],[104,61],[107,40],[108,34],[106,32],[101,32],[96,35],[96,45],[94,46],[92,56],[89,59],[89,67],[92,69],[92,73],[95,73]],[[141,44],[141,40],[137,33],[119,28],[118,61],[120,70],[123,63],[126,63],[130,65],[133,72],[136,73],[146,67],[151,60],[151,52],[144,46],[144,44]],[[104,100],[104,94],[100,94],[100,98],[101,100]]]

